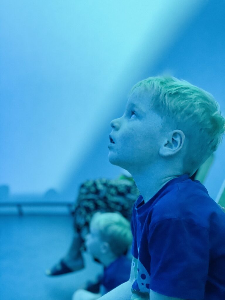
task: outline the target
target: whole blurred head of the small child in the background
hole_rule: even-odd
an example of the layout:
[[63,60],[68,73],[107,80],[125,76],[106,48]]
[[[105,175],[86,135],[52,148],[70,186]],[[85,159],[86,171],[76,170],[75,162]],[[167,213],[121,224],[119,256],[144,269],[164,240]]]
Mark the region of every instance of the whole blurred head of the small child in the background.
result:
[[132,243],[130,222],[119,213],[97,212],[91,219],[90,233],[86,236],[89,253],[101,261],[101,257],[119,257]]

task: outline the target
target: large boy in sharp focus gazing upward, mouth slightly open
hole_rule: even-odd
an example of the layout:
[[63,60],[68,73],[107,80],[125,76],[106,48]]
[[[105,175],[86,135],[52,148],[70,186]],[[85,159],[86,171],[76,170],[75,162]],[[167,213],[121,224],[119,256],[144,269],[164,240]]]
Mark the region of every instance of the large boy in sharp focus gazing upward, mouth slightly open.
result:
[[130,280],[101,299],[225,299],[225,214],[189,178],[222,140],[217,102],[186,81],[150,77],[111,126],[109,161],[131,173],[140,196]]

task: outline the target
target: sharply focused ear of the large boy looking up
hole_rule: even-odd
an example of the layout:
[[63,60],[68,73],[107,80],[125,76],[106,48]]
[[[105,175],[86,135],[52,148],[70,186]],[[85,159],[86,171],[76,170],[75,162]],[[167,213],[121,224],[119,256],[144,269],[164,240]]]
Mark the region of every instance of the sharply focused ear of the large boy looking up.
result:
[[159,149],[159,154],[163,157],[176,154],[184,146],[185,135],[182,130],[174,130],[169,134]]

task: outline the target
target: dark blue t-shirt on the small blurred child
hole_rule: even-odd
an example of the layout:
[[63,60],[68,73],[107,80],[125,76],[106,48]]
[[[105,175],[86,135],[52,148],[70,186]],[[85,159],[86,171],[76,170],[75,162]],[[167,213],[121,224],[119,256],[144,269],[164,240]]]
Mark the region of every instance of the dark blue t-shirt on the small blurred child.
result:
[[108,267],[104,268],[101,284],[104,293],[115,289],[115,287],[129,280],[131,274],[131,260],[125,255],[118,257]]

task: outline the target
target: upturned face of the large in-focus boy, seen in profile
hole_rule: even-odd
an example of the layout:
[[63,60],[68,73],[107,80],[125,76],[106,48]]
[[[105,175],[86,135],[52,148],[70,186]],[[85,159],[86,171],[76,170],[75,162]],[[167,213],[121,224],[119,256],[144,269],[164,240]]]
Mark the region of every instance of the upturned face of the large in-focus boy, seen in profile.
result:
[[149,167],[159,157],[165,137],[162,118],[150,108],[151,99],[138,88],[128,98],[125,113],[111,122],[109,161],[129,172]]

